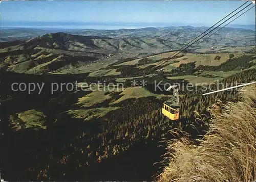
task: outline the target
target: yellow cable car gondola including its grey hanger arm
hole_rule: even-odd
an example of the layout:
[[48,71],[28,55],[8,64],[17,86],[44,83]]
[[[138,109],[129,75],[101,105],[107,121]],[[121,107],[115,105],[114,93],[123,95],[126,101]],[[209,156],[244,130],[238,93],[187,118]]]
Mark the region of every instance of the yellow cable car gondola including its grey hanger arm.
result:
[[170,120],[179,119],[180,105],[179,105],[179,92],[176,86],[170,86],[167,91],[174,89],[174,93],[170,99],[163,103],[162,114]]

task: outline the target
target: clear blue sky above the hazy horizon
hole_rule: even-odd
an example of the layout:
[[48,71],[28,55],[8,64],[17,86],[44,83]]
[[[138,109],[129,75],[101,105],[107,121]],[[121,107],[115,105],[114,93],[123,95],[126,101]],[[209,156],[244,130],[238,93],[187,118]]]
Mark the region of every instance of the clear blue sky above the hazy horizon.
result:
[[[28,21],[212,25],[243,3],[244,1],[2,1],[0,11],[2,25]],[[254,24],[255,7],[232,23]]]

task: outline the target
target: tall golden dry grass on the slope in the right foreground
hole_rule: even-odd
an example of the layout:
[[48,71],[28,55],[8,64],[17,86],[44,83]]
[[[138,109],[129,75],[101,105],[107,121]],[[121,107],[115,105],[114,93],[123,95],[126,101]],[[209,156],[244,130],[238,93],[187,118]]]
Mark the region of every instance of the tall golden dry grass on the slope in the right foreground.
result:
[[159,181],[253,181],[256,179],[256,86],[244,87],[239,102],[209,110],[209,131],[195,145],[187,138],[167,145]]

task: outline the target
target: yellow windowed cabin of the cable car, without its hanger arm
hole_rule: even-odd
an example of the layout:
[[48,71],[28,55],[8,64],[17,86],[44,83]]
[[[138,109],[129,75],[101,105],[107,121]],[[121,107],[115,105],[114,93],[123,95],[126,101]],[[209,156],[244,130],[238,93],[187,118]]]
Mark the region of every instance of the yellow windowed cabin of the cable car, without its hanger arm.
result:
[[170,105],[167,101],[163,103],[162,114],[170,120],[178,120],[180,113],[179,105]]

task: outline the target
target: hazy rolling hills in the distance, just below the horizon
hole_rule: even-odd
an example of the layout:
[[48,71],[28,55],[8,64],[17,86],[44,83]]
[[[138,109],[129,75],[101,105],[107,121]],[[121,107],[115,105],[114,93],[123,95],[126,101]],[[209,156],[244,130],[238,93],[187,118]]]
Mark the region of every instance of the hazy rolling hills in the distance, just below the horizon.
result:
[[[143,58],[178,49],[205,29],[187,26],[135,30],[84,30],[73,32],[74,35],[63,32],[48,33],[29,40],[1,43],[0,66],[9,71],[34,74],[60,71],[74,73],[85,70],[88,72],[106,67],[124,56]],[[8,34],[5,31],[8,32],[4,30],[2,33]],[[22,29],[20,34],[24,31],[35,30]],[[45,32],[38,30],[34,35],[42,33]],[[254,45],[251,37],[254,33],[252,30],[224,28],[189,51],[203,52],[205,50],[200,49],[210,47],[212,52],[216,52],[218,49],[223,49],[221,47],[225,49],[234,44]],[[100,62],[101,66],[92,64],[95,61]],[[77,67],[81,69],[76,69]]]

